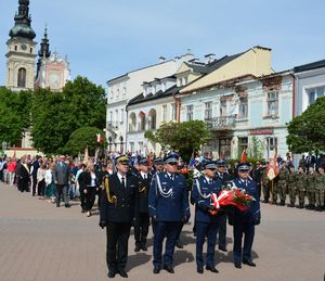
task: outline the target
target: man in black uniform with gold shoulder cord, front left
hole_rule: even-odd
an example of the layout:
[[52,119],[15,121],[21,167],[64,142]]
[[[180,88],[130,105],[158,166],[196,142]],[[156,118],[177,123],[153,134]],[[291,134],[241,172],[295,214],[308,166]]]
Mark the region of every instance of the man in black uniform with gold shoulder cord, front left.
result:
[[106,261],[108,278],[116,273],[127,278],[128,241],[131,222],[139,213],[138,179],[129,174],[129,157],[116,158],[117,171],[104,178],[100,208],[100,227],[106,227]]

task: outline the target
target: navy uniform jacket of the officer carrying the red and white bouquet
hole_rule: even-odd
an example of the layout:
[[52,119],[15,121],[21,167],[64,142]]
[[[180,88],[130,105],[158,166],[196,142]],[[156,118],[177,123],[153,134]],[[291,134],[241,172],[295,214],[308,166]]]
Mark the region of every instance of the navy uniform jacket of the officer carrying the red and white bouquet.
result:
[[217,195],[219,195],[221,189],[222,181],[219,178],[212,179],[212,183],[208,183],[206,177],[204,176],[193,181],[191,202],[195,203],[195,221],[218,223],[219,216],[212,216],[208,212],[211,199],[205,196],[211,193],[216,193]]

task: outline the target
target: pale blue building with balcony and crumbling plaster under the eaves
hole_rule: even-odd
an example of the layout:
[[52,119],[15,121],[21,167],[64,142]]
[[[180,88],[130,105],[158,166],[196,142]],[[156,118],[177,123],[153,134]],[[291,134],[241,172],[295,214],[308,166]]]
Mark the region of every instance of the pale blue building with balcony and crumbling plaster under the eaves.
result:
[[[205,155],[238,158],[243,150],[252,156],[253,139],[259,157],[285,156],[286,123],[292,118],[292,72],[260,77],[244,75],[217,82],[191,94],[178,94],[180,120],[204,120],[211,140]],[[181,91],[180,91],[181,92]]]

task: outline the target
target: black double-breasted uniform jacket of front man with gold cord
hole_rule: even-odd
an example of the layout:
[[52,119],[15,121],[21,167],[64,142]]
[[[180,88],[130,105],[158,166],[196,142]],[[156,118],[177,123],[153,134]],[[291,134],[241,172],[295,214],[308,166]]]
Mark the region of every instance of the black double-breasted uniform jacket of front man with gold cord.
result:
[[136,177],[127,174],[127,186],[123,187],[119,181],[117,173],[108,177],[110,197],[116,196],[116,203],[109,203],[107,193],[104,189],[101,201],[101,221],[110,222],[131,222],[138,214],[138,179]]

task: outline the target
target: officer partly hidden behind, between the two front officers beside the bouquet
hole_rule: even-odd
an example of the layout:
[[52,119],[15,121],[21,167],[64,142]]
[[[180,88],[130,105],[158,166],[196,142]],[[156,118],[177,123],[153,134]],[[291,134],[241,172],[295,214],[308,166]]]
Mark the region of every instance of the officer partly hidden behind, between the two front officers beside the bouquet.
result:
[[[217,161],[217,171],[216,171],[217,178],[219,178],[222,182],[222,189],[225,189],[231,181],[231,175],[229,175],[225,171],[225,161],[224,159],[218,159]],[[219,229],[218,229],[218,235],[219,235],[219,250],[222,252],[227,252],[226,250],[226,213],[220,212],[220,218],[219,218]]]

